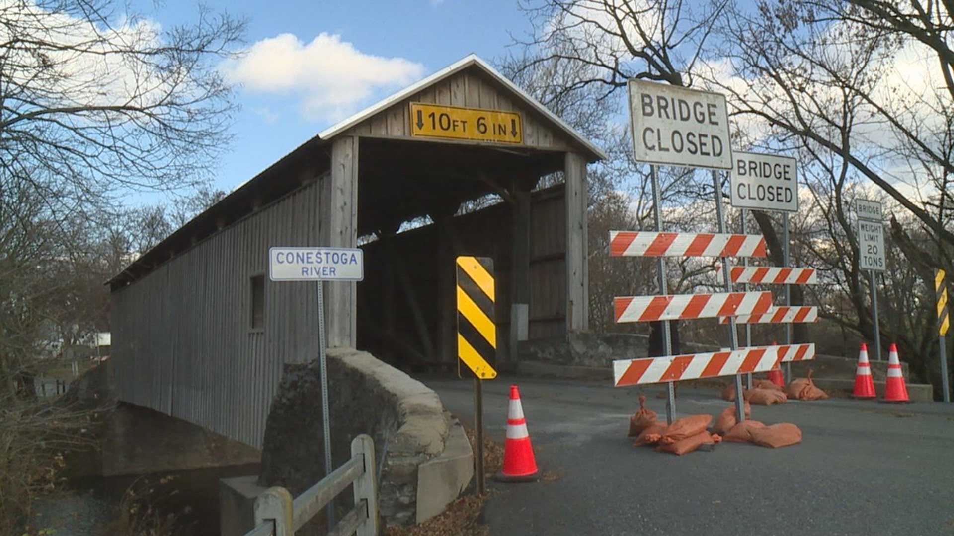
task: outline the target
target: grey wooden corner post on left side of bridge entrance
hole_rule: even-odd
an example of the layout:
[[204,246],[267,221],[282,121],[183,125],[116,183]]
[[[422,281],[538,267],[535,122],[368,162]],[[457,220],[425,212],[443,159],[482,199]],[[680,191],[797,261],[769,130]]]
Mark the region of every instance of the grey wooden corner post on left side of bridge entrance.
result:
[[[359,138],[340,136],[332,141],[331,180],[322,204],[325,236],[330,247],[353,248],[358,244],[358,149]],[[357,294],[355,283],[325,284],[325,325],[329,347],[357,343]]]

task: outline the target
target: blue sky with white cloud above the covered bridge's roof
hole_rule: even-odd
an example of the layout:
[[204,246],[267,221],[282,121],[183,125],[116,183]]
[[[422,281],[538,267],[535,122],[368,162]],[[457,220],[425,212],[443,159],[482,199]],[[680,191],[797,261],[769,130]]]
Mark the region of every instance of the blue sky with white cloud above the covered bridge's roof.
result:
[[[215,186],[231,191],[343,117],[475,52],[492,61],[529,21],[516,0],[207,0],[248,19],[248,54],[222,66],[240,84],[236,139]],[[191,2],[151,2],[162,25],[194,20]]]

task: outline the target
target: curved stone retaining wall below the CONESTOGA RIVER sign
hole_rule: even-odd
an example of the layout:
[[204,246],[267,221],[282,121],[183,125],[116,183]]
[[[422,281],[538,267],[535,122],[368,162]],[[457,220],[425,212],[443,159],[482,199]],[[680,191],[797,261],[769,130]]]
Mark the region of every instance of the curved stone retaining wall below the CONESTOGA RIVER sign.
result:
[[[437,393],[366,352],[329,350],[327,366],[333,465],[350,458],[355,436],[369,434],[381,475],[384,525],[419,521],[419,467],[441,457],[460,425],[452,425]],[[320,380],[318,361],[286,368],[265,428],[259,484],[282,485],[298,495],[324,477]],[[447,490],[424,490],[425,497],[449,494],[453,500],[469,482],[466,472],[462,467],[444,479]]]

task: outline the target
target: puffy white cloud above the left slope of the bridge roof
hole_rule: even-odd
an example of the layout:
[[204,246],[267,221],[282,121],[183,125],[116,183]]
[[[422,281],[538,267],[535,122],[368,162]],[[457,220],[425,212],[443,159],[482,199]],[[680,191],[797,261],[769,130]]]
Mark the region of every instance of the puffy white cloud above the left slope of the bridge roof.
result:
[[262,39],[220,69],[248,91],[295,95],[301,113],[315,120],[342,118],[375,92],[405,86],[425,72],[419,63],[365,54],[326,32],[307,44],[291,33]]

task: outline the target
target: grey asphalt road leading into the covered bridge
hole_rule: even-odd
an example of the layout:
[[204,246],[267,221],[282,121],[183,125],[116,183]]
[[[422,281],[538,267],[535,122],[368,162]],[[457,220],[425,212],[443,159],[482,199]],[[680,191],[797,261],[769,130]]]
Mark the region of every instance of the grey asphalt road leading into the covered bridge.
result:
[[[473,421],[472,381],[423,379]],[[852,400],[753,406],[796,423],[802,443],[719,443],[685,456],[633,447],[637,388],[590,381],[485,381],[485,425],[503,442],[517,381],[541,471],[554,482],[488,485],[490,534],[954,534],[954,404]],[[647,405],[665,419],[659,387]],[[717,416],[715,389],[681,388],[677,416]]]

